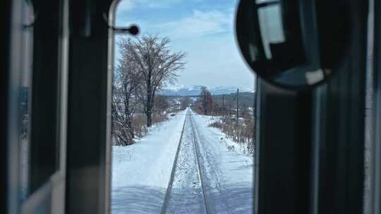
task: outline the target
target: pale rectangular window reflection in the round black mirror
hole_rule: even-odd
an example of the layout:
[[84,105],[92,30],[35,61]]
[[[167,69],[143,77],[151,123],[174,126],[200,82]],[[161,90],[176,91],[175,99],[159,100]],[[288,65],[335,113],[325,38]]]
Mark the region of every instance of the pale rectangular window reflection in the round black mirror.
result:
[[271,59],[270,44],[284,42],[281,7],[279,4],[261,7],[258,9],[258,15],[263,48],[266,58]]

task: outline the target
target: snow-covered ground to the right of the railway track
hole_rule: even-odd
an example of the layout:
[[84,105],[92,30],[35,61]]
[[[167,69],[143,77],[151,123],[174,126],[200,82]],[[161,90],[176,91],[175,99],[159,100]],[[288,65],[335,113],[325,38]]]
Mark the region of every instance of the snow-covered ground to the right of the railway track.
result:
[[[224,138],[217,128],[208,127],[210,117],[193,113],[205,173],[211,213],[253,213],[253,158],[238,144]],[[234,146],[229,151],[228,146]]]

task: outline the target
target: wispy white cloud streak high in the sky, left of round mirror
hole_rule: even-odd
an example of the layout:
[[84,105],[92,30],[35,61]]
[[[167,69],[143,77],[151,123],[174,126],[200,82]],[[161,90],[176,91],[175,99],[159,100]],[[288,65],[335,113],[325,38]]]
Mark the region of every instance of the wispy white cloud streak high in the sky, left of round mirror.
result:
[[181,20],[157,24],[153,27],[165,32],[174,39],[202,37],[208,34],[230,32],[233,26],[232,11],[193,11],[192,15]]

